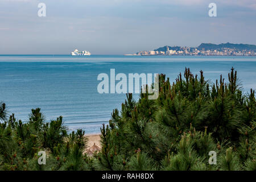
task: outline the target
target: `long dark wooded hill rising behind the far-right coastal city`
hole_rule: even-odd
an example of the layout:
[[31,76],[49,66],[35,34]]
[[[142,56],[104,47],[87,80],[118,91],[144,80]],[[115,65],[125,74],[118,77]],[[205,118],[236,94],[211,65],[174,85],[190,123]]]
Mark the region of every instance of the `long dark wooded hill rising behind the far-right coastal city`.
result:
[[223,49],[223,48],[232,48],[237,50],[256,50],[255,45],[250,44],[232,44],[232,43],[225,43],[225,44],[210,44],[210,43],[202,43],[197,49],[201,50],[202,48],[206,50],[217,50],[217,49]]

